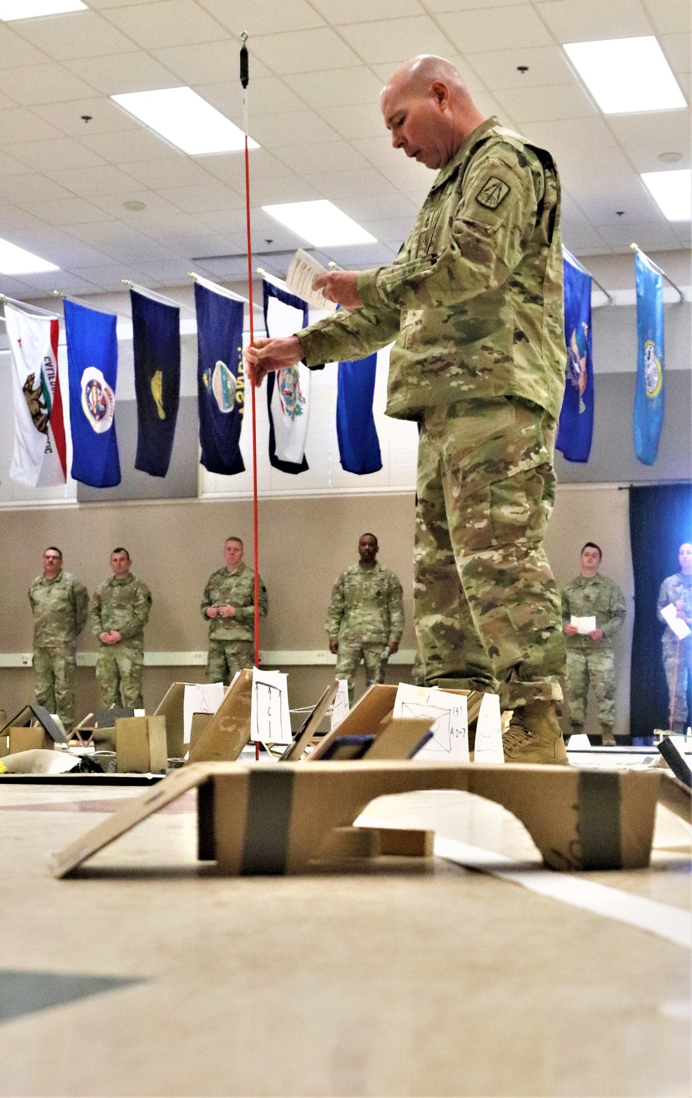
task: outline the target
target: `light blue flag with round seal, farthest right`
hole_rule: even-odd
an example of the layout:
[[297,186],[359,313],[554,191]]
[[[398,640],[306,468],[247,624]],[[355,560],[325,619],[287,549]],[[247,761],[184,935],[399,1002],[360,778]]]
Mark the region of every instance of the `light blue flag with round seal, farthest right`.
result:
[[637,287],[637,389],[634,406],[635,453],[652,466],[663,426],[663,279],[643,251],[635,255]]

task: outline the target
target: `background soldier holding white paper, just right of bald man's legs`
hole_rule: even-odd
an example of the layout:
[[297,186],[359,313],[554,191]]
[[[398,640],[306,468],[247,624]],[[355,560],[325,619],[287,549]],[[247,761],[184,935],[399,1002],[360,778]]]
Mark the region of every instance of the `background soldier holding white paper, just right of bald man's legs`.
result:
[[[589,683],[599,705],[604,747],[615,737],[615,638],[625,618],[625,596],[614,580],[599,573],[601,549],[587,541],[581,574],[562,587],[562,631],[567,637],[567,693],[571,732],[583,732]],[[595,629],[579,632],[572,618],[595,617]]]

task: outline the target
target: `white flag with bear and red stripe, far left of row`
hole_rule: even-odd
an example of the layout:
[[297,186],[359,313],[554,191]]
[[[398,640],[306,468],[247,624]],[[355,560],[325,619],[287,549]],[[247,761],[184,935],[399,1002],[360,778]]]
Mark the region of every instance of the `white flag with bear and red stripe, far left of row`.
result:
[[67,479],[65,422],[57,369],[58,322],[5,303],[12,351],[14,450],[10,477],[35,488]]

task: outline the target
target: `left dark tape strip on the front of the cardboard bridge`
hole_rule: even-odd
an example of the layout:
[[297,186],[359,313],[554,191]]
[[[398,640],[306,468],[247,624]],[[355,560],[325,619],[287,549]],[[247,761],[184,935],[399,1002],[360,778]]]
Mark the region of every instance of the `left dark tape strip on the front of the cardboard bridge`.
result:
[[293,774],[264,768],[250,771],[241,873],[286,873]]

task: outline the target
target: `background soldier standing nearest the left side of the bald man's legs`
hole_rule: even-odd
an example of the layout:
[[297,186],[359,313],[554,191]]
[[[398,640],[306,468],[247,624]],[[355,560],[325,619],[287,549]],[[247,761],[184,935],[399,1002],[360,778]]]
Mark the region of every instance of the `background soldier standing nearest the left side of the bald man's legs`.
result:
[[336,677],[347,680],[351,704],[360,660],[366,688],[384,682],[387,660],[399,648],[403,632],[401,583],[378,562],[378,548],[373,534],[361,534],[360,560],[339,575],[327,613],[325,628],[330,651],[336,656]]

